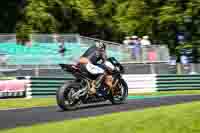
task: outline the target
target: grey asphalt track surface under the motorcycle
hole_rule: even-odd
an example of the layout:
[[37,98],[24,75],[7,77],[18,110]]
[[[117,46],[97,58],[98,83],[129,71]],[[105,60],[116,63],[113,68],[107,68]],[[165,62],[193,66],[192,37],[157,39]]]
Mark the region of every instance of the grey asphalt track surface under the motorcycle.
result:
[[121,105],[111,105],[110,102],[107,102],[98,105],[81,106],[78,110],[65,112],[61,111],[57,106],[1,110],[0,130],[15,128],[18,126],[30,126],[38,123],[86,118],[114,112],[139,110],[191,101],[200,101],[200,95],[135,99],[128,100],[125,104]]

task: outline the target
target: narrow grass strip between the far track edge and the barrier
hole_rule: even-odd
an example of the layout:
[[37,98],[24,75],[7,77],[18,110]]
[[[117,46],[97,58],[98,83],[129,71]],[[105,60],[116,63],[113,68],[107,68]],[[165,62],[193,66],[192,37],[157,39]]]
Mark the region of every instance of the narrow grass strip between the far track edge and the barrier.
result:
[[[200,90],[141,93],[141,94],[130,94],[130,96],[165,96],[165,95],[185,95],[185,94],[187,95],[199,94],[200,95]],[[30,108],[30,107],[36,107],[36,106],[52,106],[52,105],[56,105],[55,97],[0,100],[0,109]]]

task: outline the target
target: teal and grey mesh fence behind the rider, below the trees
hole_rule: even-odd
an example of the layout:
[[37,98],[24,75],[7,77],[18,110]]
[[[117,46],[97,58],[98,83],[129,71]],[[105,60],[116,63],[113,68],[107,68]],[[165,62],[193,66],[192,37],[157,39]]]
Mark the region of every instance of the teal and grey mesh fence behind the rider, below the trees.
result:
[[[66,52],[59,53],[60,42],[64,41]],[[0,35],[0,54],[6,65],[56,65],[60,63],[75,62],[84,51],[95,44],[98,39],[79,36],[77,34],[34,34],[31,36],[32,45],[24,46],[16,43],[15,36]],[[102,40],[103,41],[103,40]],[[167,62],[168,48],[165,46],[141,47],[138,55],[134,57],[134,48],[118,43],[104,41],[107,45],[108,56],[117,58],[120,62],[144,63],[149,62],[148,51],[153,49],[157,62]],[[2,62],[0,62],[2,63]]]

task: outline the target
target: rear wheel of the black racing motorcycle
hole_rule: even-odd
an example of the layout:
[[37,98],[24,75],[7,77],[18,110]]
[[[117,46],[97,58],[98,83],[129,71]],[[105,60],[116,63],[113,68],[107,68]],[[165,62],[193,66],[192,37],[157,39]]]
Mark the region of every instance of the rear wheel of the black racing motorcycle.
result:
[[62,110],[74,110],[78,106],[78,100],[73,98],[73,94],[78,91],[78,88],[73,84],[65,83],[56,92],[56,100],[58,106]]

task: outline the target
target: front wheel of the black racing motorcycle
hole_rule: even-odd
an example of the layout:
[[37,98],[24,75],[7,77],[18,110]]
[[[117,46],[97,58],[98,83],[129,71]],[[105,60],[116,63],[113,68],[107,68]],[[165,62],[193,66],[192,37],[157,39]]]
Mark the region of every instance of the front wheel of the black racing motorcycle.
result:
[[120,79],[116,88],[117,93],[110,96],[112,104],[122,104],[128,97],[128,85],[124,79]]

